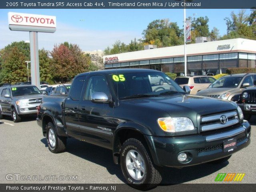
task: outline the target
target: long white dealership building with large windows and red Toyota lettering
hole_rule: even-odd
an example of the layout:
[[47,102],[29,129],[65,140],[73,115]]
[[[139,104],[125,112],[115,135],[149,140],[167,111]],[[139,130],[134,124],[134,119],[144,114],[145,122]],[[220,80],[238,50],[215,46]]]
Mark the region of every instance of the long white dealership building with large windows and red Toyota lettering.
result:
[[[227,68],[256,67],[256,41],[229,39],[187,44],[187,74],[214,75]],[[146,68],[180,75],[184,73],[184,45],[103,56],[105,69]]]

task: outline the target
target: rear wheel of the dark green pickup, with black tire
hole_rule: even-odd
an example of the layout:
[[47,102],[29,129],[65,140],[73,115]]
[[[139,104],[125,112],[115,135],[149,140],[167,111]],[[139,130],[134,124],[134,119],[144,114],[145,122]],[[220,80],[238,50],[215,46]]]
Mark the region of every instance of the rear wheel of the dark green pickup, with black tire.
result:
[[[48,143],[48,148],[51,152],[53,153],[62,153],[66,150],[66,137],[61,137],[58,136],[55,132],[55,128],[54,125],[49,122],[46,125],[46,139],[47,139],[47,143]],[[49,135],[50,132],[50,135]],[[50,136],[54,136],[55,137],[55,144],[52,144],[49,140]]]

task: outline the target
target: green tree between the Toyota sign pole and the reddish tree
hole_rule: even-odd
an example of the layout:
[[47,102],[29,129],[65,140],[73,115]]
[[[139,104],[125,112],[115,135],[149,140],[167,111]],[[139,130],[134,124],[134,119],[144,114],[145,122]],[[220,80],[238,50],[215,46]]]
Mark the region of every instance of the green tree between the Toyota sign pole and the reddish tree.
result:
[[53,84],[51,58],[49,57],[49,52],[44,49],[39,50],[39,68],[40,81]]

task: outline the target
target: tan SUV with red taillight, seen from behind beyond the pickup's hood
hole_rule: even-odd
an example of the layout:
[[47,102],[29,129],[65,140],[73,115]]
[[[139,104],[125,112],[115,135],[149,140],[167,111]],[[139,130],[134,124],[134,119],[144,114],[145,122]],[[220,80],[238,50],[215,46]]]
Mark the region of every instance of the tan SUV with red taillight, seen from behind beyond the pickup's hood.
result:
[[208,88],[216,79],[211,76],[180,76],[175,78],[174,81],[181,87],[189,86],[190,94],[195,95],[198,91]]

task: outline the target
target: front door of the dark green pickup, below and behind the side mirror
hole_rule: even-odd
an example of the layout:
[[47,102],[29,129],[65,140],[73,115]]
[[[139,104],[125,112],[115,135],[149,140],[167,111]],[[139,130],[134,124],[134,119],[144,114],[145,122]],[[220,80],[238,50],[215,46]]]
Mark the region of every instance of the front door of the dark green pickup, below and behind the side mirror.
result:
[[92,102],[91,96],[95,92],[104,92],[108,98],[111,97],[106,78],[102,75],[89,78],[84,97],[80,102],[81,139],[111,149],[113,108],[109,103]]

